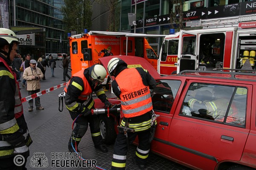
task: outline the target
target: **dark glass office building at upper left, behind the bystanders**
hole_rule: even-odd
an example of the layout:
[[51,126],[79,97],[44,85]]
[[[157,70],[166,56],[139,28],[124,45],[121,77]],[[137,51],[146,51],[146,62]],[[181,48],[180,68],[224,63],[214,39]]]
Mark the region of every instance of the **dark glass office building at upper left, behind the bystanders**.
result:
[[[14,28],[13,31],[17,34],[35,33],[35,46],[20,45],[20,53],[28,53],[35,58],[45,53],[69,53],[69,42],[64,33],[61,13],[63,0],[10,0],[9,2],[11,29]],[[38,30],[36,28],[41,28],[41,32],[34,32],[33,30]]]

